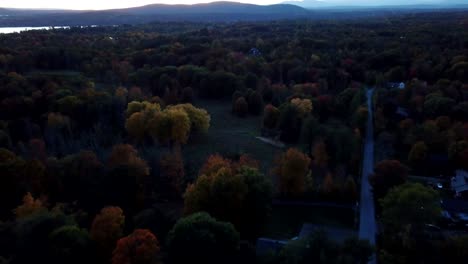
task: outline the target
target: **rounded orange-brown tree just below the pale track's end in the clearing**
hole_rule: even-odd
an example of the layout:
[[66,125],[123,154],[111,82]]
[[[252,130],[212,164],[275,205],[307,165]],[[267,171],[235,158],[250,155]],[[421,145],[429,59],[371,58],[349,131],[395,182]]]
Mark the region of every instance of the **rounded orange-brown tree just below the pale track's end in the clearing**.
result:
[[277,159],[274,173],[278,176],[279,192],[284,196],[297,196],[305,191],[310,158],[290,148]]

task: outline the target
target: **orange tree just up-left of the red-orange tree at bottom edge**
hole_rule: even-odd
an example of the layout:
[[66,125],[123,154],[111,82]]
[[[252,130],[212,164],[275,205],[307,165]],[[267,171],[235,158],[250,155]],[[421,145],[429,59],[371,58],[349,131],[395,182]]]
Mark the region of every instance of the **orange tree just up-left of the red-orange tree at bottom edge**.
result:
[[122,236],[125,216],[120,207],[105,207],[91,225],[91,238],[96,242],[101,257],[110,257],[116,241]]

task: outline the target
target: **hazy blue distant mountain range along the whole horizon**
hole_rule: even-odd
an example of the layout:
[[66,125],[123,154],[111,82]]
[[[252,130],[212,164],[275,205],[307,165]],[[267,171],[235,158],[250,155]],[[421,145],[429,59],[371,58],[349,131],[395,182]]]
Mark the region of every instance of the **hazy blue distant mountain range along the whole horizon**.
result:
[[[155,0],[157,1],[157,0]],[[341,1],[341,2],[340,2]],[[196,5],[153,4],[142,7],[101,11],[7,9],[0,8],[0,27],[24,26],[86,26],[141,24],[154,21],[233,22],[265,21],[280,19],[343,19],[387,15],[389,12],[419,12],[418,10],[440,6],[454,6],[468,0],[381,0],[379,3],[414,3],[438,1],[438,5],[397,7],[358,7],[346,0],[288,0],[283,4],[254,5],[237,2],[213,2]],[[375,3],[361,0],[359,3]],[[443,3],[442,3],[443,2]],[[337,7],[330,4],[336,3]],[[339,3],[354,3],[343,7]],[[468,7],[468,5],[466,5]],[[468,8],[466,8],[468,10]],[[395,11],[397,10],[397,11]]]

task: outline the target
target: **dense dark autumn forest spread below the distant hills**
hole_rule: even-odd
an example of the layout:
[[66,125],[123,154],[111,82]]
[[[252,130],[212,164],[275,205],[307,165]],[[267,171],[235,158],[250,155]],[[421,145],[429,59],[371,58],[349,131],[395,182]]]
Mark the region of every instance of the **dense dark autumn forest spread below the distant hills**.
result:
[[[466,226],[439,226],[468,169],[467,27],[444,11],[0,34],[0,263],[466,260]],[[371,88],[377,244],[292,239],[356,232]],[[292,240],[259,254],[261,237]]]

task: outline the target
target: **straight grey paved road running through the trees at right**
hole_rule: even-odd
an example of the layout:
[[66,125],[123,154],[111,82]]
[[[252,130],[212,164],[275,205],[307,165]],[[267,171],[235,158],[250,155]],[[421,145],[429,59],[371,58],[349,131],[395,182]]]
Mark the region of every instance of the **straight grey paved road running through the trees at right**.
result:
[[[375,235],[377,225],[375,223],[374,212],[374,197],[372,195],[371,186],[369,183],[369,175],[374,169],[374,126],[373,126],[373,109],[372,95],[374,90],[370,89],[367,92],[367,105],[369,116],[367,119],[367,132],[364,145],[364,158],[362,161],[362,176],[361,176],[361,200],[360,217],[359,217],[359,238],[367,239],[372,245],[375,245]],[[377,263],[375,256],[369,264]]]

